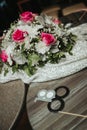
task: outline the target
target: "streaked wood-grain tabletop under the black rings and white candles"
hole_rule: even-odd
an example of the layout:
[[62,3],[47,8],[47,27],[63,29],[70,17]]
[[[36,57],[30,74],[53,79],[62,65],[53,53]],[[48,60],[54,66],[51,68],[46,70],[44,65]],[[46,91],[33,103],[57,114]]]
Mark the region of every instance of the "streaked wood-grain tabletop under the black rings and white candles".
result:
[[[55,89],[61,85],[70,90],[70,94],[64,99],[63,111],[87,115],[87,69],[84,69],[66,78],[30,85],[27,113],[33,130],[87,130],[87,118],[52,113],[46,102],[34,102],[39,90]],[[58,104],[56,102],[54,106]]]

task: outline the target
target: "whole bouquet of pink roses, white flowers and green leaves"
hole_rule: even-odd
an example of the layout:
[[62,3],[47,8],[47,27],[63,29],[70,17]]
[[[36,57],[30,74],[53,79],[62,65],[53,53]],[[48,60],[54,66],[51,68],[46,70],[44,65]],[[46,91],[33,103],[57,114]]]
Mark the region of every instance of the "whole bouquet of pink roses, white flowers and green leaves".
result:
[[4,74],[11,68],[13,73],[23,70],[31,76],[47,63],[58,63],[65,53],[72,55],[75,39],[60,20],[23,12],[11,24],[0,45]]

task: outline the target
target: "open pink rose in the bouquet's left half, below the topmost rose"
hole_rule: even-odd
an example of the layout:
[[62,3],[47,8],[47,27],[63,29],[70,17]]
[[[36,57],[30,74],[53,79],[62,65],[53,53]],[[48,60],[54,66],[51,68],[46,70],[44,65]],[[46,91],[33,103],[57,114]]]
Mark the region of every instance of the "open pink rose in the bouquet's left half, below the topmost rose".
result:
[[17,29],[13,32],[12,39],[15,42],[22,42],[27,34],[27,32],[23,32],[22,30]]

